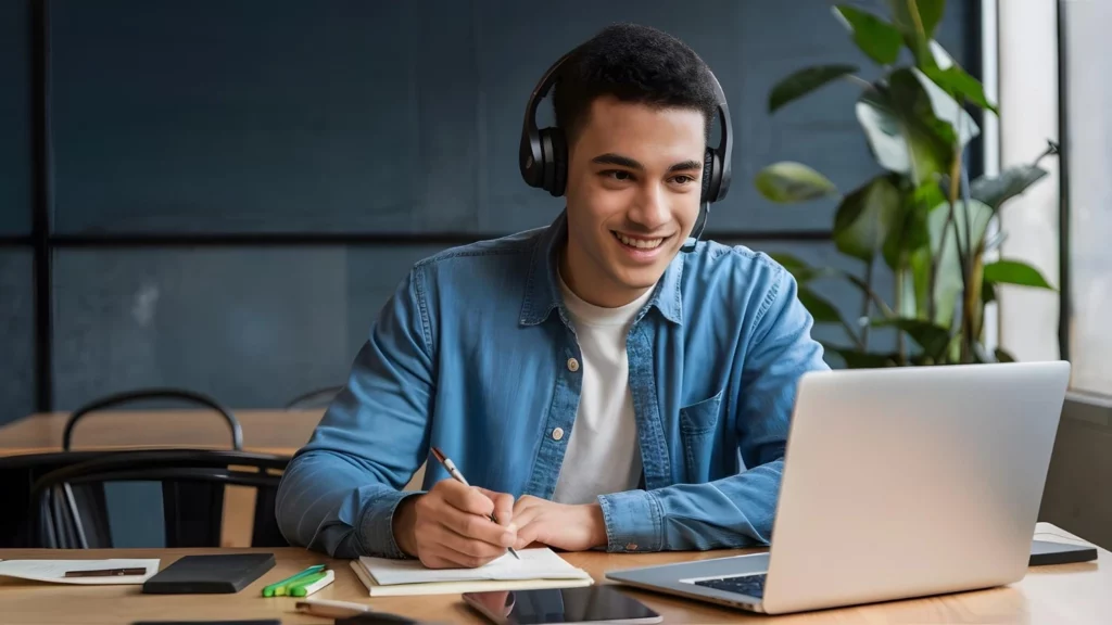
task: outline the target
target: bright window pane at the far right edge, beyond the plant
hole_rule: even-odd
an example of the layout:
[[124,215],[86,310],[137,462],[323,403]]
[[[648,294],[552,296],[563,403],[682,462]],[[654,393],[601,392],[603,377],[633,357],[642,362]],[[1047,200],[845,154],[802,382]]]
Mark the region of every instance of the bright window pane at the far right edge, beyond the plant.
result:
[[1073,387],[1112,395],[1112,54],[1108,2],[1062,2],[1066,37],[1070,360]]

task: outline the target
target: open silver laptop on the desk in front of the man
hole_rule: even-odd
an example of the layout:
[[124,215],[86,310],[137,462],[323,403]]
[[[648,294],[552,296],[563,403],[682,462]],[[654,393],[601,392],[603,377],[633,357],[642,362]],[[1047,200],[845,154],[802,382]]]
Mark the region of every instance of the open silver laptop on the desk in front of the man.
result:
[[606,577],[767,614],[1016,582],[1069,378],[1065,361],[808,374],[768,553]]

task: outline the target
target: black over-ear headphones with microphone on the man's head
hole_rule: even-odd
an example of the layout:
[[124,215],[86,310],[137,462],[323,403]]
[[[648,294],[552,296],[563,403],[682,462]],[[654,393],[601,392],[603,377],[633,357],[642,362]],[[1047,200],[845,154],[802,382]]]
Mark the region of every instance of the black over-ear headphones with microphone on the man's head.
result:
[[[564,131],[559,128],[537,128],[537,108],[548,90],[559,79],[560,66],[574,53],[575,50],[560,57],[540,77],[525,106],[525,123],[522,128],[522,146],[518,152],[522,177],[530,187],[544,189],[553,197],[563,196],[567,186],[567,140],[564,137]],[[699,214],[695,220],[695,227],[692,228],[691,237],[681,248],[681,251],[684,252],[693,251],[699,237],[703,236],[707,216],[711,212],[711,204],[721,201],[729,190],[729,159],[734,149],[729,106],[726,103],[726,95],[714,72],[707,69],[707,73],[711,75],[711,82],[714,83],[714,91],[718,100],[717,111],[722,137],[716,147],[707,147],[703,157],[703,191],[699,196]]]

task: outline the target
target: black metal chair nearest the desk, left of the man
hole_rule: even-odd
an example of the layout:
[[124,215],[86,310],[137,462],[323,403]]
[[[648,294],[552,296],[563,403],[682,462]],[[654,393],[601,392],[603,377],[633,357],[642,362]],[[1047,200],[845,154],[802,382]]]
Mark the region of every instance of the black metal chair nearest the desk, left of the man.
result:
[[[256,489],[252,547],[288,546],[275,518],[289,458],[199,449],[107,452],[43,475],[31,487],[31,516],[47,548],[110,548],[107,482],[159,482],[166,547],[219,547],[226,486]],[[99,495],[98,495],[99,494]]]

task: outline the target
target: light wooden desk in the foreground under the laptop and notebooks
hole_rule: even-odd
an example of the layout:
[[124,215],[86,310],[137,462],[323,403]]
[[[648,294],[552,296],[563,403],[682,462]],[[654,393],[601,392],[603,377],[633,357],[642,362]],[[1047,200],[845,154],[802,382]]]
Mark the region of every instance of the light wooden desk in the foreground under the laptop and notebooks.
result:
[[[1039,532],[1071,537],[1046,524]],[[1037,535],[1040,539],[1053,536]],[[246,549],[235,549],[237,552]],[[228,553],[225,550],[222,553]],[[267,584],[282,579],[306,566],[328,562],[304,549],[274,549],[278,564],[251,586],[235,595],[142,595],[138,586],[76,587],[0,581],[0,619],[13,624],[112,623],[126,624],[138,619],[216,619],[279,618],[284,624],[331,623],[294,612],[296,599],[261,598]],[[220,553],[217,549],[172,550],[0,550],[0,558],[106,558],[158,557],[165,568],[187,554]],[[592,573],[599,583],[610,569],[663,564],[668,562],[721,557],[745,552],[664,553],[664,554],[565,554],[568,562]],[[336,582],[317,593],[318,598],[360,602],[375,609],[404,614],[438,623],[481,623],[466,607],[459,595],[426,595],[381,597],[371,599],[346,560],[330,560]],[[782,617],[734,612],[681,598],[653,593],[627,591],[665,616],[666,623],[1106,623],[1112,615],[1112,555],[1100,549],[1098,563],[1054,567],[1034,567],[1012,586],[990,591],[960,593],[924,599],[891,602],[860,607],[804,613]]]

